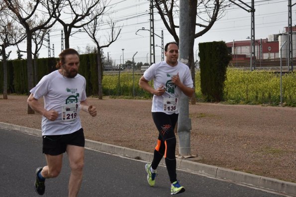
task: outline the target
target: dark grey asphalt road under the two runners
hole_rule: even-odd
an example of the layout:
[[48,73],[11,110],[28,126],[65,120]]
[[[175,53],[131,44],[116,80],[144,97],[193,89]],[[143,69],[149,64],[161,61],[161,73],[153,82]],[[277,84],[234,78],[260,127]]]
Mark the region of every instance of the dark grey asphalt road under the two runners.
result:
[[[35,170],[46,165],[42,139],[0,128],[0,197],[37,197]],[[46,180],[45,197],[67,197],[70,168],[64,155],[59,177]],[[168,197],[170,183],[166,168],[158,168],[156,185],[146,181],[142,161],[86,150],[84,180],[80,197]],[[186,188],[180,197],[280,197],[281,195],[228,181],[177,171]]]

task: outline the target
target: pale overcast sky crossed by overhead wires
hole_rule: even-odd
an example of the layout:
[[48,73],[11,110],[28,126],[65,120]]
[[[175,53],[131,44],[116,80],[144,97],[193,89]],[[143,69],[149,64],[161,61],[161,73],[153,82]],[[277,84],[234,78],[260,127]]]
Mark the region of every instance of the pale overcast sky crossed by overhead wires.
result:
[[[251,0],[242,0],[251,5]],[[238,2],[238,1],[237,1]],[[292,0],[292,4],[296,0]],[[122,63],[122,49],[124,61],[132,60],[133,55],[135,62],[149,63],[149,31],[139,30],[144,27],[150,29],[149,5],[150,0],[111,0],[109,3],[113,8],[110,15],[113,21],[117,21],[118,26],[123,26],[118,39],[112,43],[108,48],[104,48],[104,54],[116,62]],[[284,27],[288,26],[288,0],[255,0],[255,39],[267,38],[270,34],[278,34],[284,32]],[[111,13],[109,11],[109,13]],[[197,47],[199,42],[210,41],[225,41],[232,42],[233,40],[246,40],[251,35],[251,13],[238,7],[237,5],[229,6],[224,16],[215,22],[210,31],[195,40],[195,54],[197,54]],[[156,8],[154,9],[154,27],[155,34],[161,36],[161,30],[164,32],[164,44],[174,41],[173,37],[167,31],[160,19]],[[292,7],[293,25],[296,24],[296,5]],[[179,21],[176,18],[176,23]],[[102,26],[106,28],[106,26]],[[50,32],[50,45],[54,44],[55,57],[61,52],[61,30],[62,26],[57,22],[54,29]],[[139,31],[138,31],[139,30]],[[77,31],[74,29],[73,32]],[[137,35],[135,34],[137,32]],[[197,28],[196,32],[199,31]],[[179,33],[179,29],[177,30]],[[101,31],[101,45],[103,45],[105,33]],[[47,42],[44,42],[47,45]],[[85,51],[87,45],[95,45],[85,32],[77,32],[70,38],[70,47]],[[161,39],[155,36],[155,44],[161,45]],[[25,50],[25,43],[20,44],[20,48]],[[13,47],[7,48],[6,51],[12,50],[10,59],[17,58],[16,49]],[[156,62],[161,61],[161,48],[155,47]],[[23,57],[25,57],[24,54]],[[52,56],[52,52],[51,52]],[[196,55],[195,55],[196,56]],[[43,47],[40,50],[39,57],[48,57],[48,50]],[[198,57],[197,57],[198,58]]]

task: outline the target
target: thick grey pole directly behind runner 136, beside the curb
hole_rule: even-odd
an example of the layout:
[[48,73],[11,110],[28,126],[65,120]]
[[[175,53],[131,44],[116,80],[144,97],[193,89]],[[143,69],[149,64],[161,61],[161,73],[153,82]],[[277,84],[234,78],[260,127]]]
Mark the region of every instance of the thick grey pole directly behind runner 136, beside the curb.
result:
[[[180,39],[179,60],[188,64],[189,61],[189,0],[180,0]],[[191,119],[189,118],[189,98],[182,93],[179,98],[179,156],[191,156],[190,130]]]

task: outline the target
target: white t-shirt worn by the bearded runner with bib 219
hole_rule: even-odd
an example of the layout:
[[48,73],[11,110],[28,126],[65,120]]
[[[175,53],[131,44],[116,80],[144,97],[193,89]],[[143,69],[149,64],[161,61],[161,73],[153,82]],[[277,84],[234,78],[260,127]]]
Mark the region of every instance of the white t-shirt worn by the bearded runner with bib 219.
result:
[[44,108],[59,113],[55,121],[42,116],[42,135],[62,135],[82,128],[80,101],[86,100],[86,79],[77,74],[66,78],[58,70],[44,76],[30,92],[34,98],[43,97]]

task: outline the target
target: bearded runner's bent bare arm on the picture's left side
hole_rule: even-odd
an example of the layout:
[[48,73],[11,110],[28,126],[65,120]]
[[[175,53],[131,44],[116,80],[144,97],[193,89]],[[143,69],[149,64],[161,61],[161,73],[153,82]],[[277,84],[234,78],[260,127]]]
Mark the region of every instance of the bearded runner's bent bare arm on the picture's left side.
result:
[[38,99],[34,98],[33,93],[29,96],[27,99],[27,103],[30,105],[30,107],[34,110],[40,113],[41,115],[45,116],[47,119],[54,121],[57,119],[59,113],[55,110],[49,110],[47,111],[44,106],[38,101]]

